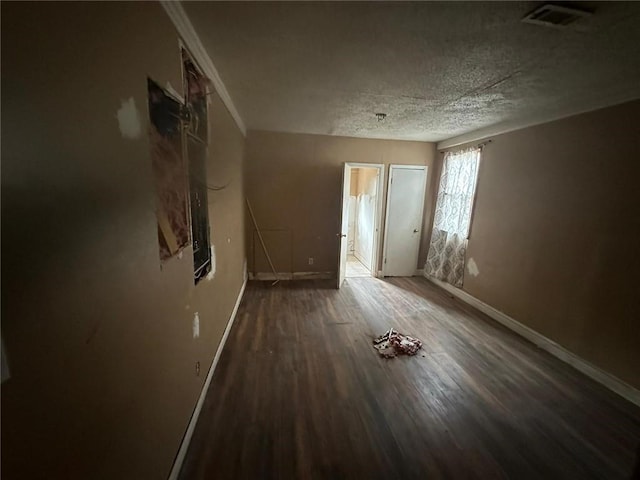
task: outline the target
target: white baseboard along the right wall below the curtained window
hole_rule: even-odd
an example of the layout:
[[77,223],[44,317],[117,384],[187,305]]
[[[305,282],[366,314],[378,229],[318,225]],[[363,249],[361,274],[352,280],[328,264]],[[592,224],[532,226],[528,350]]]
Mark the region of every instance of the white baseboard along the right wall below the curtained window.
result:
[[591,363],[587,362],[583,358],[580,358],[579,356],[577,356],[575,353],[572,353],[566,348],[562,347],[561,345],[558,345],[553,340],[550,340],[544,335],[536,332],[535,330],[532,330],[526,325],[523,325],[522,323],[511,318],[507,314],[502,313],[500,310],[495,309],[491,305],[487,305],[486,303],[482,302],[481,300],[478,300],[474,296],[469,295],[464,290],[454,287],[449,283],[442,282],[435,278],[429,277],[428,275],[425,275],[425,277],[430,282],[439,286],[443,290],[446,290],[447,292],[451,293],[454,297],[462,300],[463,302],[465,302],[468,305],[471,305],[472,307],[477,308],[482,313],[493,318],[495,321],[501,323],[502,325],[514,331],[518,335],[526,338],[527,340],[532,342],[534,345],[537,345],[543,350],[546,350],[551,355],[553,355],[556,358],[559,358],[563,362],[568,363],[569,365],[581,371],[588,377],[591,377],[596,382],[604,385],[609,390],[612,390],[618,395],[620,395],[621,397],[629,400],[631,403],[634,403],[640,406],[640,390],[637,390],[636,388],[632,387],[628,383],[620,380],[619,378],[611,375],[610,373],[605,372],[604,370],[601,370],[595,365],[592,365]]

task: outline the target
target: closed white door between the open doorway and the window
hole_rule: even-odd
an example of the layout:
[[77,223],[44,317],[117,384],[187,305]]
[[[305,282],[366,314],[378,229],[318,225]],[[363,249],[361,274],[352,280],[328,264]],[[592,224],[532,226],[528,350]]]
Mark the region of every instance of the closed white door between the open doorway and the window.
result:
[[411,277],[418,268],[427,167],[391,165],[383,274]]

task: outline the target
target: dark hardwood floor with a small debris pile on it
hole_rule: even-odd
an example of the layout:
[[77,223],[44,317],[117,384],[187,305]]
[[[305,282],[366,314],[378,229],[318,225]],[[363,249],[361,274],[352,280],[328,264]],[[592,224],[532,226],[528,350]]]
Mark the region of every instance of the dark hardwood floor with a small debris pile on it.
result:
[[249,283],[182,479],[630,477],[633,404],[425,279],[332,286]]

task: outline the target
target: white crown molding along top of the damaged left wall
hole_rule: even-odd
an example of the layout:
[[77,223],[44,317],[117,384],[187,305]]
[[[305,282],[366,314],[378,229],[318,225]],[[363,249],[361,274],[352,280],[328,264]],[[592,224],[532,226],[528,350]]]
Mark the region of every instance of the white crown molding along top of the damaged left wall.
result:
[[227,91],[227,87],[225,87],[211,57],[209,57],[207,50],[200,41],[200,37],[198,37],[198,34],[193,28],[191,20],[189,20],[187,13],[184,11],[184,8],[182,8],[182,4],[179,1],[168,0],[161,0],[160,4],[182,37],[185,46],[189,49],[189,52],[193,55],[200,68],[202,68],[203,73],[213,82],[216,92],[220,95],[220,98],[235,120],[236,125],[238,125],[242,135],[246,136],[247,128],[242,121],[242,117],[240,117],[238,110],[236,110],[233,100],[231,100],[231,95],[229,95]]

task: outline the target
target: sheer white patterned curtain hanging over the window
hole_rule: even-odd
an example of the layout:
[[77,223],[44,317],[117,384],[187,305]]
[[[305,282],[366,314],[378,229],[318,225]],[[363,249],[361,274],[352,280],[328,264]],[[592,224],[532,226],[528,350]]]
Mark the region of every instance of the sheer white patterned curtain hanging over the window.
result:
[[425,272],[462,287],[471,211],[478,180],[480,148],[444,157]]

